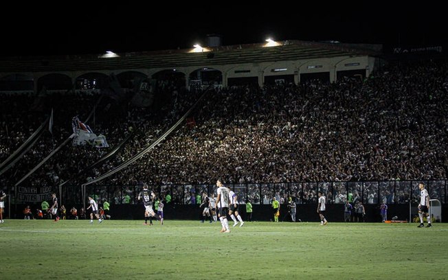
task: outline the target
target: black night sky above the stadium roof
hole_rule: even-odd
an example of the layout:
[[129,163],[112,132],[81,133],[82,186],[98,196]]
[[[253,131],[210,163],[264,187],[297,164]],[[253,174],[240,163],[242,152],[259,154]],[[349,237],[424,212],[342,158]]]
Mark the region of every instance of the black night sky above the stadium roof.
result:
[[350,1],[352,4],[342,7],[324,1],[273,1],[271,5],[150,2],[109,2],[103,6],[71,3],[76,7],[70,9],[12,8],[8,12],[11,19],[0,20],[0,56],[182,49],[205,43],[206,34],[221,34],[223,45],[261,43],[268,36],[275,40],[338,40],[385,46],[436,45],[448,40],[444,9],[421,7],[421,3],[414,7],[410,2],[390,6],[388,2]]

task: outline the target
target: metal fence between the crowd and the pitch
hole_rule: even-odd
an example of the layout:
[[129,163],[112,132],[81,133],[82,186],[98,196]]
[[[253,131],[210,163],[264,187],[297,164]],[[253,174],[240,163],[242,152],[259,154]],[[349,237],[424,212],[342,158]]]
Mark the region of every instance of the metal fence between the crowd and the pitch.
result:
[[[420,190],[418,183],[424,183],[431,199],[442,204],[447,201],[448,180],[392,180],[362,182],[302,182],[302,183],[250,183],[227,184],[238,196],[241,204],[250,200],[254,205],[269,205],[275,196],[280,203],[286,203],[289,196],[297,204],[317,203],[317,191],[322,191],[328,204],[343,204],[361,201],[365,205],[388,205],[418,203]],[[201,193],[216,195],[215,184],[202,185],[152,185],[150,189],[161,198],[169,194],[171,201],[178,205],[200,204]],[[110,186],[89,185],[86,196],[93,196],[98,202],[108,201],[111,205],[137,204],[142,185]],[[57,192],[57,191],[56,191]],[[60,198],[66,205],[82,204],[80,186],[67,186],[60,191]],[[21,201],[18,201],[21,202]]]

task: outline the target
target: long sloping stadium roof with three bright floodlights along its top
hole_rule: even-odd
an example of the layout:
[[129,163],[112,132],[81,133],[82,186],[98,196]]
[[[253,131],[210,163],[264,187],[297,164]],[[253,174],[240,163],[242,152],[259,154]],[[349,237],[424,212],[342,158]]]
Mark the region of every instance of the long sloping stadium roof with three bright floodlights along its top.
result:
[[117,54],[117,57],[112,58],[104,58],[104,54],[0,58],[0,72],[170,69],[172,67],[309,60],[335,56],[378,56],[382,49],[381,45],[370,44],[316,43],[300,40],[285,40],[277,43],[279,45],[276,47],[264,47],[263,43],[208,47],[210,51],[196,53],[190,52],[191,49],[132,52]]

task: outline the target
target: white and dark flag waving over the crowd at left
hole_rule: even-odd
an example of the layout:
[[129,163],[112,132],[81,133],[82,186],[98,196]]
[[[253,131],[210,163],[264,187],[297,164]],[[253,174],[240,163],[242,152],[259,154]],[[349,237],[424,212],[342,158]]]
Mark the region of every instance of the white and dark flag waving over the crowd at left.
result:
[[73,138],[73,145],[93,145],[96,148],[107,148],[109,145],[107,144],[106,137],[104,135],[96,135],[93,133],[91,128],[84,124],[82,121],[78,119],[78,117],[74,117],[71,119],[71,128],[73,128],[73,132],[75,137]]

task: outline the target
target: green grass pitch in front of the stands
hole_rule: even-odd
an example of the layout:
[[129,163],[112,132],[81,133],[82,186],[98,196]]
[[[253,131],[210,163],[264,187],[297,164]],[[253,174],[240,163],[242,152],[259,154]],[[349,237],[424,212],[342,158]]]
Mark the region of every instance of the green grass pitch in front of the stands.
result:
[[0,279],[448,279],[448,224],[416,226],[6,220]]

